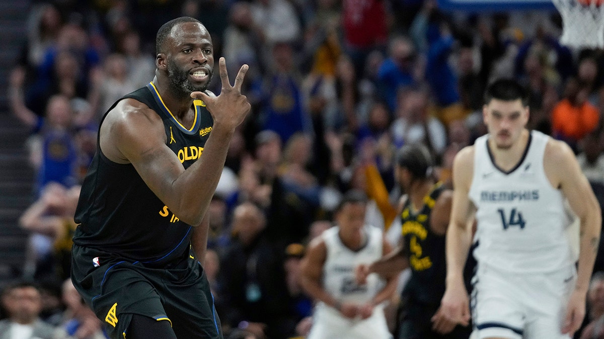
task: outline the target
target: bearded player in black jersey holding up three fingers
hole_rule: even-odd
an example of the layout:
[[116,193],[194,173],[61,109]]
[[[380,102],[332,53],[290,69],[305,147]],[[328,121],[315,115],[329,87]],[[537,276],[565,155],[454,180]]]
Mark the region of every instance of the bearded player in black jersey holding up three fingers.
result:
[[155,78],[101,121],[76,211],[72,280],[111,338],[222,338],[204,262],[205,218],[226,150],[250,106],[210,34],[180,17],[159,28]]

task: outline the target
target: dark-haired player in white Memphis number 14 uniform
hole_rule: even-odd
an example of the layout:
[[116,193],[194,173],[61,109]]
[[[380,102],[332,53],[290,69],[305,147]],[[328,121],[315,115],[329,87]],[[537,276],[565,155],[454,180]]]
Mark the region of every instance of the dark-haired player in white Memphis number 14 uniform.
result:
[[[489,134],[463,148],[453,165],[442,311],[467,322],[463,264],[477,220],[472,320],[478,338],[570,338],[585,315],[585,295],[600,237],[600,208],[567,144],[525,127],[527,93],[515,80],[486,90]],[[564,199],[580,220],[575,259]]]

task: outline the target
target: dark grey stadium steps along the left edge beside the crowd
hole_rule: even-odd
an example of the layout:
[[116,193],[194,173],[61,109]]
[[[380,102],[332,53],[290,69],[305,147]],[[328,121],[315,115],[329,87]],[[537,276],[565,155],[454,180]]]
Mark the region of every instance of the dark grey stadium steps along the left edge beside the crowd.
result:
[[27,38],[29,8],[30,1],[0,0],[0,281],[22,272],[27,233],[18,219],[33,201],[34,173],[25,149],[29,130],[8,111],[6,97],[8,74]]

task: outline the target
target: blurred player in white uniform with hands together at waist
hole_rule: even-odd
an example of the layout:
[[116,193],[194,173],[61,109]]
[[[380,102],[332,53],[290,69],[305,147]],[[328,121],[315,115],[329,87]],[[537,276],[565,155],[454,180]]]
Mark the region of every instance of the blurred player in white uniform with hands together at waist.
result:
[[367,198],[362,192],[344,195],[336,211],[336,226],[310,242],[302,261],[302,287],[318,301],[308,339],[387,339],[385,300],[396,279],[384,285],[377,274],[356,284],[356,265],[376,261],[391,247],[377,227],[364,224]]

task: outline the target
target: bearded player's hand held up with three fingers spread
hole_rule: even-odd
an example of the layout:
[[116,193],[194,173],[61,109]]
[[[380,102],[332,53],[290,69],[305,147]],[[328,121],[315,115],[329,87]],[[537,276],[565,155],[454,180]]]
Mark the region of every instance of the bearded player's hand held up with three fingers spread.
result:
[[191,98],[204,101],[205,107],[214,119],[214,126],[224,126],[234,130],[243,122],[248,114],[251,105],[248,103],[248,98],[241,93],[241,84],[245,73],[248,71],[248,65],[241,66],[235,83],[233,86],[229,83],[228,73],[226,72],[226,62],[223,57],[218,62],[220,73],[220,81],[222,81],[222,89],[218,97],[210,97],[204,92],[193,92]]

